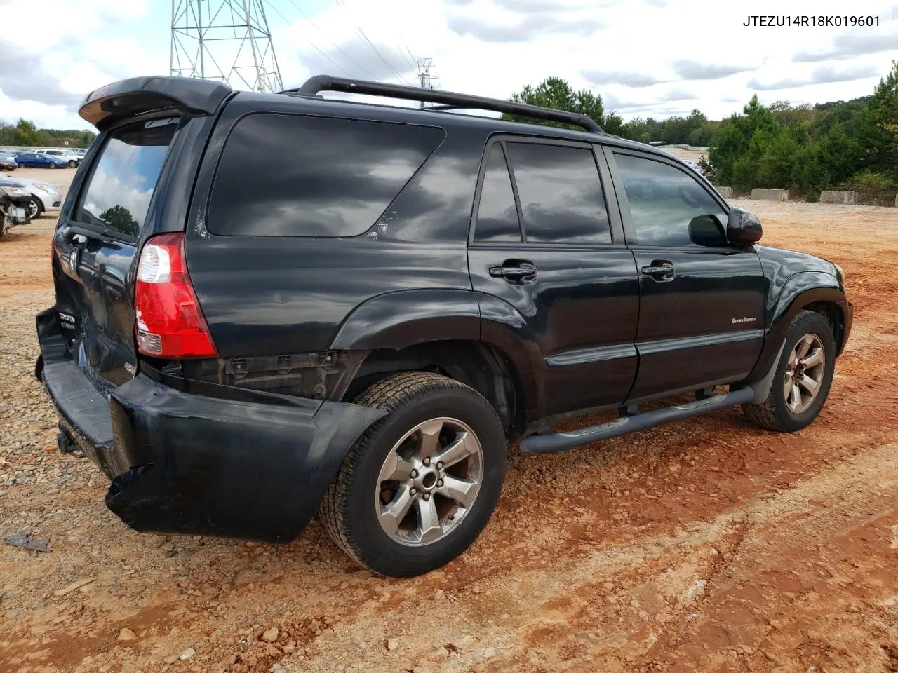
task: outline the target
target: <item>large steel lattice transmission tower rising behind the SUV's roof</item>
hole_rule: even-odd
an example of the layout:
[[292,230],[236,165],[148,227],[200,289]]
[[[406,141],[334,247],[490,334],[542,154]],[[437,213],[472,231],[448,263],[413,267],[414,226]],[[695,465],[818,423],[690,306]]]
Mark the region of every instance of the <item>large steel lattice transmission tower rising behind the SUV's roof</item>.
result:
[[172,0],[172,74],[279,92],[264,0]]

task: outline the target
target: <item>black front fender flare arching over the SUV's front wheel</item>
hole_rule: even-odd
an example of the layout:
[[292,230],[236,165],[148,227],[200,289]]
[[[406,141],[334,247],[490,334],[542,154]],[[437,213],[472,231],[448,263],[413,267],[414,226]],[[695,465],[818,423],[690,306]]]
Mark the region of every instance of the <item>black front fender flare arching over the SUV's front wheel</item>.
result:
[[753,383],[761,380],[770,371],[770,367],[773,366],[779,349],[786,339],[789,325],[792,324],[798,311],[818,302],[832,303],[837,306],[841,310],[843,323],[848,328],[849,302],[839,287],[839,280],[834,275],[823,271],[801,271],[789,276],[776,296],[768,297],[764,346],[758,362],[755,363],[746,382]]

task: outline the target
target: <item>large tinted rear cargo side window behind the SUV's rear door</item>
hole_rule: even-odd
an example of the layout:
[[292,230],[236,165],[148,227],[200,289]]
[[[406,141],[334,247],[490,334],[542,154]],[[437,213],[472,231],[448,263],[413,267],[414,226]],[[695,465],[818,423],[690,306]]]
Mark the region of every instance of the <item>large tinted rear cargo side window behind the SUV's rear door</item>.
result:
[[234,127],[209,230],[234,236],[366,232],[443,140],[442,129],[254,114]]

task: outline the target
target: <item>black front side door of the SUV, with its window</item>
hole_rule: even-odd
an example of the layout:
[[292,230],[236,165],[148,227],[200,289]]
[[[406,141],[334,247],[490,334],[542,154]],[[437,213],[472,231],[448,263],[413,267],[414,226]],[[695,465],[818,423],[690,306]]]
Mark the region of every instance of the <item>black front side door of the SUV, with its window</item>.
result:
[[606,150],[639,272],[639,371],[630,401],[744,378],[761,354],[766,283],[726,242],[726,208],[690,169]]

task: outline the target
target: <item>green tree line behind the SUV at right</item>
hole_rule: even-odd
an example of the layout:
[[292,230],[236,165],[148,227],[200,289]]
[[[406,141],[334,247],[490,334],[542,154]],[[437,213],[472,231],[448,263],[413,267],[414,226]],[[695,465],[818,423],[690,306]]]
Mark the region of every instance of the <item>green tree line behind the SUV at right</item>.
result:
[[[567,109],[593,118],[605,131],[641,143],[707,145],[701,163],[714,184],[736,192],[788,188],[814,201],[824,189],[853,189],[864,203],[894,204],[898,190],[898,62],[874,92],[851,101],[765,106],[755,95],[741,114],[709,120],[698,109],[686,117],[634,118],[606,112],[602,97],[575,92],[560,77],[526,86],[509,99]],[[529,123],[548,123],[504,115]]]

